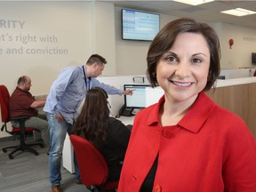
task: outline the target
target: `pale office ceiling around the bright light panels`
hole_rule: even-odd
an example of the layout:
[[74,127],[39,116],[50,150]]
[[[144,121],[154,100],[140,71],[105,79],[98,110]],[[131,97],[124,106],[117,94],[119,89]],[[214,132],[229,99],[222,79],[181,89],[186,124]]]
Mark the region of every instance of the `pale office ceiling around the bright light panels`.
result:
[[[97,1],[97,0],[96,0]],[[100,1],[100,0],[99,0]],[[169,1],[104,1],[115,4],[118,7],[136,9],[145,12],[156,12],[160,14],[167,14],[177,17],[190,17],[196,20],[205,22],[225,22],[244,26],[248,28],[256,28],[256,14],[236,17],[228,14],[221,13],[221,11],[243,8],[256,12],[256,1],[226,1],[215,0],[214,2],[189,5],[180,4],[177,2]]]

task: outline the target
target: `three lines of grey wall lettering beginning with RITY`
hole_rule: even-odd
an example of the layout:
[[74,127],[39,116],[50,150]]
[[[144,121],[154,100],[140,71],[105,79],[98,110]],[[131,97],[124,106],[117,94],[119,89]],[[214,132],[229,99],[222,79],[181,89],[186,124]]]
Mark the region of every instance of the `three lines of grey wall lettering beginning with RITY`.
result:
[[[44,34],[22,20],[0,20],[0,55],[68,55],[58,36]],[[31,30],[32,27],[32,30]],[[33,32],[32,32],[33,31]]]

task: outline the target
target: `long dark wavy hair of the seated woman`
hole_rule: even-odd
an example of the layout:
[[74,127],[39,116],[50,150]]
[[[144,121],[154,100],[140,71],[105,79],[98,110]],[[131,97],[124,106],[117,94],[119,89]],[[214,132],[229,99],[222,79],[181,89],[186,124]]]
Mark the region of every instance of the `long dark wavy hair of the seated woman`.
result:
[[100,87],[90,89],[84,101],[81,114],[72,127],[72,133],[90,140],[100,148],[107,138],[108,94]]

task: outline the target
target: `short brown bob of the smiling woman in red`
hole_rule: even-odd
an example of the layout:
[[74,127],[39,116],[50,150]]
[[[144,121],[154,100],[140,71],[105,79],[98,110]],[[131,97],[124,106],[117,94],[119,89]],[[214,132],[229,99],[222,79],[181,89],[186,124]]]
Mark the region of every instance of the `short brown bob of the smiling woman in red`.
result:
[[154,38],[148,49],[148,81],[152,87],[158,85],[156,80],[156,65],[161,56],[168,52],[175,43],[177,36],[181,33],[196,33],[202,34],[208,44],[211,60],[208,74],[207,84],[204,91],[212,88],[216,78],[220,75],[220,42],[215,31],[206,23],[201,23],[196,20],[181,18],[173,20],[166,24]]

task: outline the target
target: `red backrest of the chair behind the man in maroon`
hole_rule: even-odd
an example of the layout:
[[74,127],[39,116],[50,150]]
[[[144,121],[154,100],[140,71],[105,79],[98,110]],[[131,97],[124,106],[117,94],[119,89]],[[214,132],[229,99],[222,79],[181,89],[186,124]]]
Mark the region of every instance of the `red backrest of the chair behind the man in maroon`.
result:
[[7,88],[3,84],[1,84],[0,85],[0,108],[1,108],[2,122],[4,123],[8,123],[10,121],[9,100],[10,100],[10,94]]

